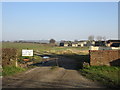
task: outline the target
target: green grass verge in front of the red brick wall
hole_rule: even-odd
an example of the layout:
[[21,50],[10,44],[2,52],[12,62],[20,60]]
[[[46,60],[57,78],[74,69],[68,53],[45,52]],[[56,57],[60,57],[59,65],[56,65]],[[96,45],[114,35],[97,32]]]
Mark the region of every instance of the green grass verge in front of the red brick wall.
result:
[[80,69],[80,73],[83,76],[93,81],[99,81],[110,88],[118,88],[120,86],[120,67],[91,66]]

